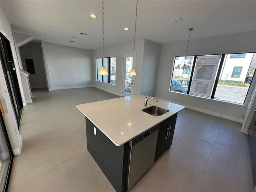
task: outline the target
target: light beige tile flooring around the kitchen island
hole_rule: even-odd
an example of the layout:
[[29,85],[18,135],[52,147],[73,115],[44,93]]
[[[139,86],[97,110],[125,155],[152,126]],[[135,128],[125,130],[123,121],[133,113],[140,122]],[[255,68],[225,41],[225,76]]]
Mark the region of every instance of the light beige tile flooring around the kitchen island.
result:
[[[118,96],[97,88],[32,94],[33,103],[24,107],[22,154],[14,158],[9,191],[114,191],[87,151],[85,118],[76,105]],[[248,142],[240,126],[182,110],[170,150],[130,191],[251,192]]]

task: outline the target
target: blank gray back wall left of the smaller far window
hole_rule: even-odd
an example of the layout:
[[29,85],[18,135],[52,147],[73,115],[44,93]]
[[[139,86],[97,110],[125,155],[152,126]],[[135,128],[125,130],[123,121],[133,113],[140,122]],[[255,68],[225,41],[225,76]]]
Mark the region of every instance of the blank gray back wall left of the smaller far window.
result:
[[93,86],[92,51],[46,43],[52,90]]

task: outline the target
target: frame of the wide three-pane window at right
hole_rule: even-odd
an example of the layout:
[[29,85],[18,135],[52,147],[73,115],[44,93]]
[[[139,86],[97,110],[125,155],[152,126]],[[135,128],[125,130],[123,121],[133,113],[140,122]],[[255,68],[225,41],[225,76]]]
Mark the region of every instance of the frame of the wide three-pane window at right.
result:
[[[244,54],[244,57],[238,57],[239,54],[237,54],[237,57],[233,57],[233,58],[245,58],[245,55],[246,55],[247,53],[254,53],[254,54],[256,54],[256,52],[246,52],[246,53],[243,53],[243,54]],[[228,53],[228,54],[230,54],[230,53]],[[204,99],[212,99],[212,100],[217,101],[217,102],[225,102],[225,103],[230,103],[230,104],[235,104],[235,105],[244,105],[244,102],[246,101],[246,98],[247,98],[247,96],[248,96],[248,93],[250,92],[249,90],[250,90],[250,88],[251,88],[251,84],[250,84],[249,87],[248,87],[246,96],[245,96],[245,98],[244,98],[244,102],[243,102],[242,104],[241,104],[241,103],[232,102],[232,101],[228,101],[228,100],[218,100],[218,99],[215,99],[215,98],[214,98],[214,95],[215,95],[215,93],[216,93],[216,89],[217,89],[217,86],[218,86],[218,81],[220,80],[219,78],[220,78],[220,75],[221,75],[221,72],[222,72],[222,67],[224,67],[224,66],[223,66],[224,59],[226,58],[226,56],[227,56],[228,54],[194,55],[194,61],[193,61],[193,63],[192,63],[192,69],[190,70],[190,71],[191,71],[191,74],[190,74],[190,78],[189,78],[188,91],[187,91],[187,93],[181,93],[181,92],[176,92],[176,91],[172,91],[172,90],[171,90],[171,87],[172,87],[172,77],[173,77],[173,75],[174,75],[174,69],[176,69],[175,66],[174,66],[175,61],[177,60],[176,57],[184,57],[184,56],[175,56],[175,57],[174,57],[174,62],[173,62],[172,74],[171,74],[171,82],[170,82],[170,86],[169,86],[169,90],[168,90],[168,91],[169,91],[169,92],[174,92],[174,93],[176,93],[176,94],[186,94],[186,95],[188,95],[188,96],[194,96],[194,97],[199,97],[199,98],[204,98]],[[193,76],[194,76],[194,70],[195,70],[196,60],[197,60],[198,56],[211,56],[211,55],[221,55],[221,58],[220,58],[220,63],[219,63],[218,70],[217,70],[217,73],[216,73],[216,78],[215,78],[214,84],[213,84],[213,86],[212,86],[212,93],[211,93],[210,98],[209,98],[209,97],[206,97],[206,96],[200,96],[200,95],[190,94],[190,87],[191,87],[191,84],[192,84],[192,79],[193,79]],[[232,55],[232,54],[230,54],[230,58],[231,58],[231,55]],[[234,67],[234,68],[235,68],[235,67]],[[243,68],[243,67],[240,67],[240,68]],[[250,67],[249,67],[249,68],[250,68]],[[241,74],[241,72],[242,72],[242,69],[241,69],[241,71],[240,71],[240,74]],[[234,73],[234,69],[233,69],[232,75],[233,75],[233,73]],[[239,74],[239,77],[232,77],[232,76],[231,76],[231,77],[232,77],[232,78],[240,78],[240,74]],[[254,75],[256,75],[256,70],[255,70],[255,72],[254,72]],[[254,79],[254,75],[253,75],[253,77],[252,77],[252,80]]]

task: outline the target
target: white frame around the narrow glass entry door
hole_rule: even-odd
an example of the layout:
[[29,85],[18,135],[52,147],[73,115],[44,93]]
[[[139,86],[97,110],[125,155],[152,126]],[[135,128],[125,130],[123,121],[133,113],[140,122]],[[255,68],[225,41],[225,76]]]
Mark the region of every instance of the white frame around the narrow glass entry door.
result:
[[[125,91],[124,91],[125,77],[126,77],[126,60],[125,60],[125,58],[127,58],[127,57],[133,57],[133,52],[123,54],[122,97],[134,95],[135,76],[132,76],[131,94],[126,94]],[[134,59],[133,59],[133,63],[132,63],[132,68],[136,69],[136,52],[134,52]]]

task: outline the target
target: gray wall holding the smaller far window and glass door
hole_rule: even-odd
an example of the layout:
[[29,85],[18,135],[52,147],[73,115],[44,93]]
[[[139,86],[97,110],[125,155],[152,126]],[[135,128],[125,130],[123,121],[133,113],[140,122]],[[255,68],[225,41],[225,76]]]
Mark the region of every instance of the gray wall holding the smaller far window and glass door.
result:
[[[120,44],[116,46],[104,48],[104,57],[116,57],[116,85],[96,80],[96,58],[102,58],[102,49],[93,52],[93,78],[94,86],[107,90],[119,96],[122,95],[122,74],[123,74],[123,54],[133,52],[133,42]],[[142,63],[144,53],[144,39],[136,40],[136,67],[135,70],[138,75],[135,76],[134,94],[140,94]]]

